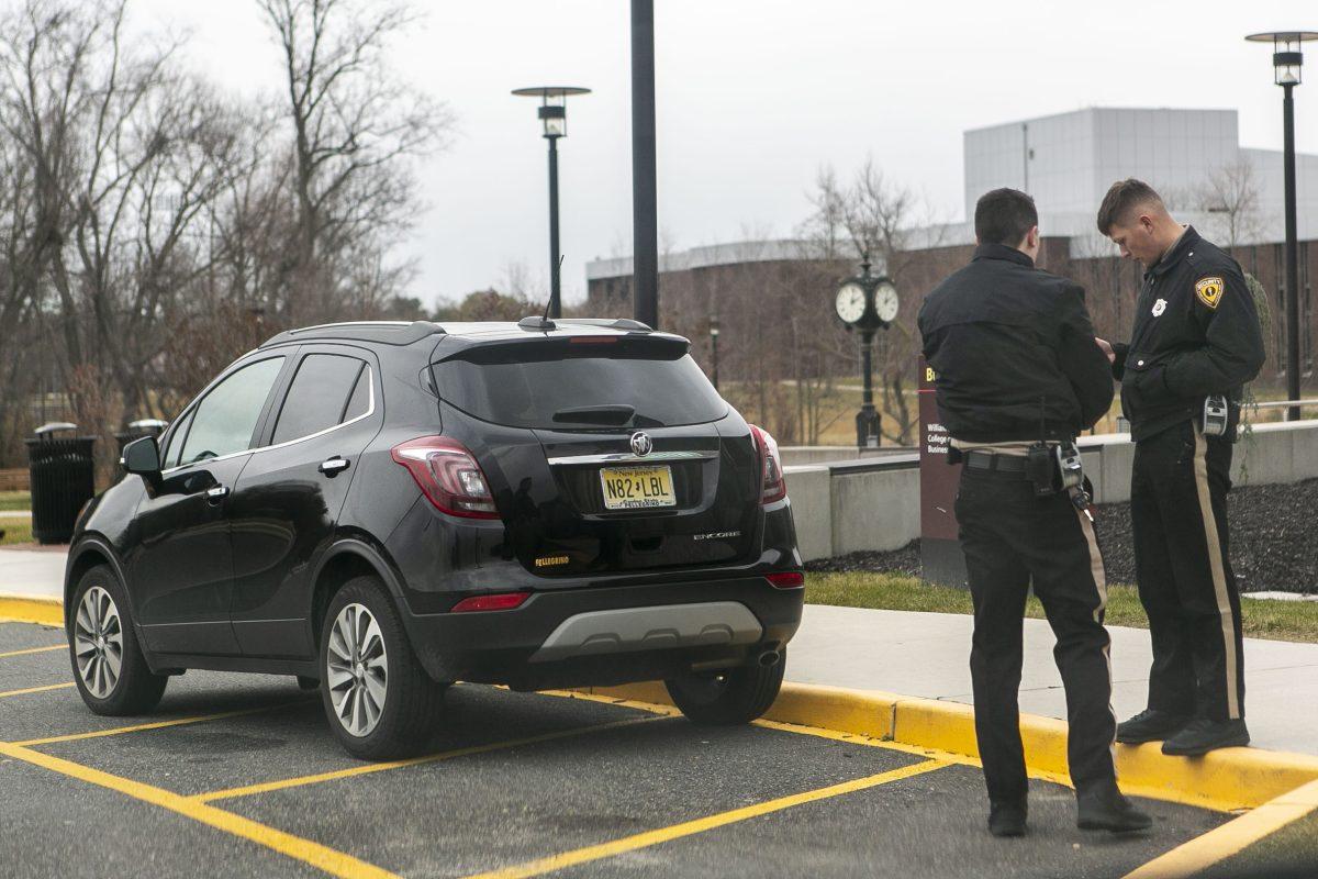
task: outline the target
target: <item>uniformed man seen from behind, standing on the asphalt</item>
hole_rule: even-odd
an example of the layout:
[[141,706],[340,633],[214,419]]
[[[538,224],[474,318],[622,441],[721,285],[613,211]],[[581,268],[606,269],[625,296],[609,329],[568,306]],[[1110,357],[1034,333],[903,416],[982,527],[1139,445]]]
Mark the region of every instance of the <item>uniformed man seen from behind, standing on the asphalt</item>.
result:
[[1139,830],[1149,818],[1122,796],[1112,764],[1103,560],[1087,498],[1075,503],[1075,492],[1056,490],[1056,449],[1107,411],[1111,373],[1083,290],[1035,268],[1033,199],[1006,188],[981,198],[975,239],[971,264],[925,299],[920,332],[938,415],[965,464],[956,510],[975,609],[970,673],[988,830],[1025,830],[1017,691],[1031,582],[1057,635],[1077,822]]

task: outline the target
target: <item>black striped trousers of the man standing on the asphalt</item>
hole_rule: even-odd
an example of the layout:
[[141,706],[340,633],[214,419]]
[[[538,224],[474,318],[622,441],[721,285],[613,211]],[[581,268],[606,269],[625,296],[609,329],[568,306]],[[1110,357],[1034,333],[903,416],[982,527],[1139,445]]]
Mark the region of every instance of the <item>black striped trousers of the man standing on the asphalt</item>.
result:
[[1036,498],[1023,474],[970,468],[961,474],[957,522],[975,606],[970,677],[988,797],[1012,803],[1027,791],[1017,691],[1031,582],[1057,637],[1072,780],[1077,788],[1111,781],[1116,718],[1103,627],[1107,586],[1093,525],[1064,494]]

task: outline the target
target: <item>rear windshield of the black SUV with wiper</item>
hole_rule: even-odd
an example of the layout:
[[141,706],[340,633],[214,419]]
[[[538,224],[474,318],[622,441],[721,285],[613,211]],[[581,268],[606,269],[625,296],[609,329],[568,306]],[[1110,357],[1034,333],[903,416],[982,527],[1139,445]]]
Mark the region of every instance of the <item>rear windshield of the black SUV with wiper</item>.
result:
[[465,351],[434,370],[442,399],[510,427],[668,427],[728,414],[676,345],[497,345]]

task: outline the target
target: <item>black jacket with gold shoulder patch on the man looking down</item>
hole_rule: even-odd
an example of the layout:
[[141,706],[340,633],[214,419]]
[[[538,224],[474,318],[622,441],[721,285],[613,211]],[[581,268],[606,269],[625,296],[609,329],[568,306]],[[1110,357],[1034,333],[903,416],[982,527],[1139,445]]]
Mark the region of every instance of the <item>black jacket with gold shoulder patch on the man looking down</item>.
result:
[[1209,394],[1239,402],[1264,358],[1239,264],[1188,227],[1144,273],[1131,341],[1112,349],[1122,412],[1136,441],[1199,416]]

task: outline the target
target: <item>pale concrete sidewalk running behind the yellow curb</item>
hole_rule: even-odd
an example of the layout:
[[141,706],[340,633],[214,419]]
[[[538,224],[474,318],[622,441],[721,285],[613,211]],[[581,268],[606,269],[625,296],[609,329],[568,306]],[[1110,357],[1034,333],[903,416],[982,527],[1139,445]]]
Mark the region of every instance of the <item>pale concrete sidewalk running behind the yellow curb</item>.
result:
[[[65,553],[58,550],[0,550],[0,594],[58,598],[63,575]],[[1024,626],[1020,710],[1065,718],[1052,630],[1043,619],[1025,619]],[[787,677],[970,704],[970,617],[961,614],[807,605],[788,648]],[[1124,720],[1144,708],[1152,654],[1147,631],[1110,631],[1112,706]],[[1247,638],[1244,656],[1253,746],[1318,755],[1318,644]]]

